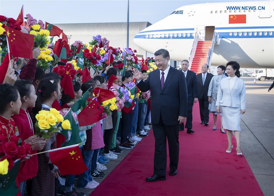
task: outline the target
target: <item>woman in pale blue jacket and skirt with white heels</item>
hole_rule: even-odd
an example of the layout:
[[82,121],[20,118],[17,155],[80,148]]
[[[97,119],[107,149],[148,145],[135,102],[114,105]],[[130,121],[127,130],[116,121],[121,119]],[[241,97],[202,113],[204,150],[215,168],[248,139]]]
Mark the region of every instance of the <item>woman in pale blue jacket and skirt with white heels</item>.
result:
[[227,153],[232,151],[232,131],[234,130],[237,142],[237,155],[242,155],[240,149],[241,135],[241,114],[245,112],[245,85],[240,79],[240,65],[236,61],[227,63],[227,78],[221,80],[217,100],[216,109],[220,113],[222,107],[223,128],[227,130],[228,148]]

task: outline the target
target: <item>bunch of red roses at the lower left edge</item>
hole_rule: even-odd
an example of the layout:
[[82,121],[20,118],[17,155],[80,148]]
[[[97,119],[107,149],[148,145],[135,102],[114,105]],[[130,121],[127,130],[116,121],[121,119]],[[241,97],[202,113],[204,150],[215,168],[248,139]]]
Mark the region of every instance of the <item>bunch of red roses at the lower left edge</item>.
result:
[[26,144],[17,136],[12,136],[9,140],[7,137],[1,137],[0,141],[0,161],[8,161],[5,161],[5,165],[9,165],[8,170],[12,169],[16,159],[23,159],[30,154],[30,144]]

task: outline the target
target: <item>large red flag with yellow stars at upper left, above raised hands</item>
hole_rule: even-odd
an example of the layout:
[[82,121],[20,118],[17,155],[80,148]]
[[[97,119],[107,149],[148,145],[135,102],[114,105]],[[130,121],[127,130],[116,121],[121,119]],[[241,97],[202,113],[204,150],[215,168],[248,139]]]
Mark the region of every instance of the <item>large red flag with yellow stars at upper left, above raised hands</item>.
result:
[[9,42],[9,51],[13,57],[22,57],[33,59],[32,48],[34,45],[34,36],[22,33],[19,30],[5,26],[7,39]]

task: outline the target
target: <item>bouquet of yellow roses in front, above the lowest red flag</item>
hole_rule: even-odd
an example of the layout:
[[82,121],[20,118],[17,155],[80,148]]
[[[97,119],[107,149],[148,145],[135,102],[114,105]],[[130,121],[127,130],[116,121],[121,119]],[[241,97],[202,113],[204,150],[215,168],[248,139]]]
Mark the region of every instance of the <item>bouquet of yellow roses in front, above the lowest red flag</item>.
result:
[[[51,137],[53,133],[60,133],[61,127],[65,130],[71,130],[69,120],[64,120],[63,116],[56,109],[51,108],[50,111],[41,110],[35,118],[37,122],[34,124],[36,135],[46,139]],[[57,127],[57,123],[61,123],[61,127]]]

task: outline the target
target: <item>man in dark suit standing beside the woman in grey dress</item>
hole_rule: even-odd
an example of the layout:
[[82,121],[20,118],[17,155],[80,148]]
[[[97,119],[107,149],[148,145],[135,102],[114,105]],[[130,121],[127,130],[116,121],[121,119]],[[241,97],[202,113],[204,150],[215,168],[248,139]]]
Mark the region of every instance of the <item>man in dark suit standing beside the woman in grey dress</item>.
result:
[[203,64],[202,65],[202,73],[199,73],[196,75],[197,82],[198,82],[198,100],[199,100],[199,106],[200,106],[200,117],[201,117],[201,124],[205,124],[205,126],[208,126],[209,121],[209,102],[208,102],[208,87],[209,83],[211,81],[211,78],[213,77],[213,74],[207,73],[208,65]]

